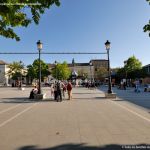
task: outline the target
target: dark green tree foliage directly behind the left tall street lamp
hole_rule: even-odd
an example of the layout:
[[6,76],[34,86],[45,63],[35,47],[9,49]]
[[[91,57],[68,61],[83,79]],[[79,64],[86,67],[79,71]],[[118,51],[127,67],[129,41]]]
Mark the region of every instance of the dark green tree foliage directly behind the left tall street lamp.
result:
[[[28,73],[27,76],[33,79],[38,79],[39,77],[39,59],[34,60],[32,65],[28,65]],[[47,77],[50,74],[48,69],[48,65],[41,60],[41,79],[43,80],[44,77]]]

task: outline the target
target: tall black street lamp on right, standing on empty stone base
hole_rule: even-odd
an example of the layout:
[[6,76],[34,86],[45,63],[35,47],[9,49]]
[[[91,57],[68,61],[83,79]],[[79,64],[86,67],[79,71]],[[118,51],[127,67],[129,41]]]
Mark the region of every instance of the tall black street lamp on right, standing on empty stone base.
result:
[[110,50],[110,42],[107,40],[105,43],[105,47],[107,50],[107,56],[108,56],[108,93],[112,93],[112,87],[111,87],[111,73],[110,73],[110,60],[109,60],[109,50]]

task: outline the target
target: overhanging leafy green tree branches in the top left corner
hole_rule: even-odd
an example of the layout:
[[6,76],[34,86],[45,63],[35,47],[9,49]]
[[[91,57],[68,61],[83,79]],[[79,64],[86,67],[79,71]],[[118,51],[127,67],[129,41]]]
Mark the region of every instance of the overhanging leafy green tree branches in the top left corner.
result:
[[53,4],[59,6],[60,1],[1,0],[0,4],[0,35],[19,41],[20,37],[13,30],[15,27],[27,27],[32,21],[38,24],[40,15]]

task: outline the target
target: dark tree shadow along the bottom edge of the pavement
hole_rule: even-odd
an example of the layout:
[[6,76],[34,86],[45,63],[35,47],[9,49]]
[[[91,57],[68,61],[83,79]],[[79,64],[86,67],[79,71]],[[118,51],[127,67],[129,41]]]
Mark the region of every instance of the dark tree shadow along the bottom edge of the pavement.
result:
[[150,149],[150,146],[147,144],[139,144],[139,145],[117,145],[110,144],[99,147],[87,146],[86,144],[64,144],[50,148],[38,148],[35,145],[29,145],[21,147],[17,150],[131,150],[131,149]]

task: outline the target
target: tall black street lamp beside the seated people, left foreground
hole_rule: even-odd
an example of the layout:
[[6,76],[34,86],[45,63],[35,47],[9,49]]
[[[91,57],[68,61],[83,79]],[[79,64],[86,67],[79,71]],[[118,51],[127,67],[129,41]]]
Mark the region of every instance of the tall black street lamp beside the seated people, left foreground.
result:
[[38,90],[38,94],[41,94],[41,50],[42,50],[43,43],[41,43],[41,41],[39,40],[36,44],[37,44],[37,49],[39,51],[39,90]]

